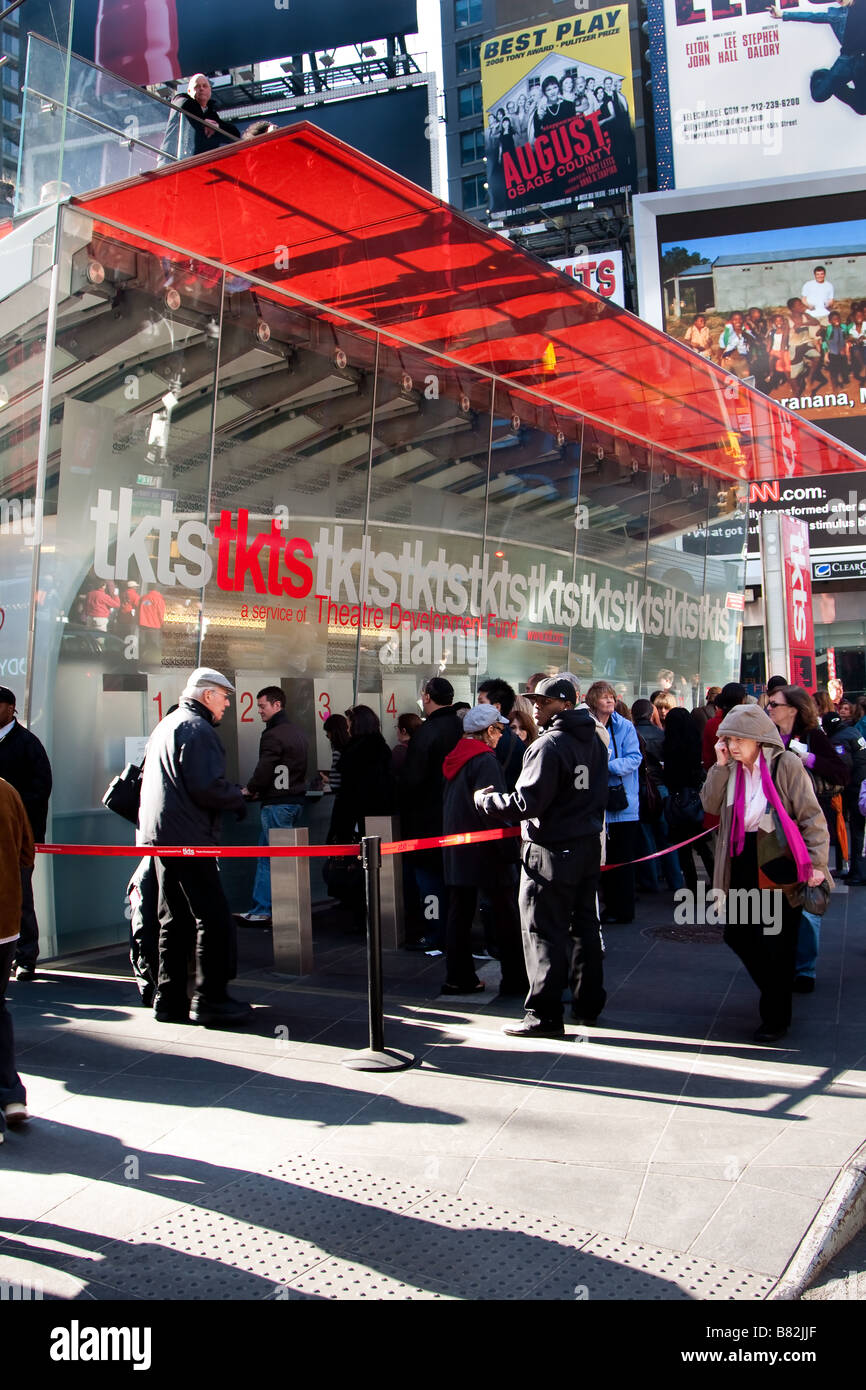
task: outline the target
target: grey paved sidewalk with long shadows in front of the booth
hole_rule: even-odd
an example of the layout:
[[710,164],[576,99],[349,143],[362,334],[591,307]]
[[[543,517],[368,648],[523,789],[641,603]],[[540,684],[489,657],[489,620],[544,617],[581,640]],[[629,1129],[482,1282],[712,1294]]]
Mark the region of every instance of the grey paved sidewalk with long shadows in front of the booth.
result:
[[[834,894],[783,1042],[671,898],[606,929],[603,1026],[520,1042],[441,999],[443,960],[366,954],[317,917],[316,972],[240,933],[243,1033],[158,1024],[122,952],[13,986],[32,1123],[0,1148],[0,1280],[46,1298],[762,1300],[866,1138],[866,890]],[[491,990],[489,986],[493,986]],[[14,1177],[11,1177],[14,1175]]]

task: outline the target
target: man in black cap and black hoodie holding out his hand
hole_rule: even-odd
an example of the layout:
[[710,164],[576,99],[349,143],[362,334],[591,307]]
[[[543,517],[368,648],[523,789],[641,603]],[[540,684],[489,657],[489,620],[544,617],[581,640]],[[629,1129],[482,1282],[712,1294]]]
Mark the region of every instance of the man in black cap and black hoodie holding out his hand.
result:
[[527,748],[513,792],[477,791],[498,824],[523,824],[520,924],[530,977],[523,1023],[510,1037],[560,1038],[563,990],[571,1015],[594,1023],[605,1005],[596,891],[607,805],[607,751],[571,681],[552,677],[531,696],[544,735]]

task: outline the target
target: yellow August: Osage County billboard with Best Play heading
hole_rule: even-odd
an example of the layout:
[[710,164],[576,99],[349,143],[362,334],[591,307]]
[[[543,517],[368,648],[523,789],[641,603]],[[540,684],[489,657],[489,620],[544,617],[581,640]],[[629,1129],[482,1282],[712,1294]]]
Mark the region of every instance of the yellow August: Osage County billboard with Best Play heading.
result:
[[491,213],[634,190],[628,6],[481,44]]

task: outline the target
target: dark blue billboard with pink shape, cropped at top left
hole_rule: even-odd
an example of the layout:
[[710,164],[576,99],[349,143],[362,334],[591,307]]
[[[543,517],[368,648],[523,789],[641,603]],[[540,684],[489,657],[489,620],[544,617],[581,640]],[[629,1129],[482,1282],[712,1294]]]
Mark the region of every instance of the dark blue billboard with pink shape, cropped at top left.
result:
[[[22,26],[54,39],[51,0]],[[416,33],[416,0],[75,0],[72,51],[145,86],[392,33]]]

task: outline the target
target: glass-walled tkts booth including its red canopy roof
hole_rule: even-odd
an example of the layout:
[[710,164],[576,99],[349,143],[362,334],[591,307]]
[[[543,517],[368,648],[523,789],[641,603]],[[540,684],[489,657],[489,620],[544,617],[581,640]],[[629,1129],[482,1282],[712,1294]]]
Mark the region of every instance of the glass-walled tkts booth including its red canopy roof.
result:
[[[691,705],[740,669],[745,485],[862,467],[310,125],[0,249],[0,682],[56,842],[124,837],[101,794],[199,664],[243,778],[271,682],[325,769],[328,713],[392,735],[435,673]],[[40,860],[47,954],[122,937],[128,870]]]

